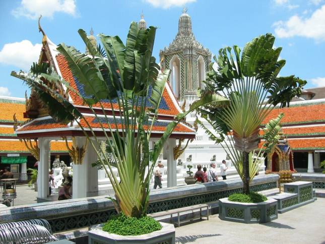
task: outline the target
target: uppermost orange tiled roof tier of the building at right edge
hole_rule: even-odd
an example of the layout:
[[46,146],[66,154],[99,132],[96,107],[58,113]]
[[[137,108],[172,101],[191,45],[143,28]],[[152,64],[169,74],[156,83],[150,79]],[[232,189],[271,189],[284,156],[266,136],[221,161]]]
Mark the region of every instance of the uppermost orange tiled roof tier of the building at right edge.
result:
[[266,125],[271,118],[277,117],[280,112],[284,113],[281,120],[283,125],[325,121],[325,102],[315,102],[314,104],[298,103],[290,107],[275,108],[264,119],[262,124]]

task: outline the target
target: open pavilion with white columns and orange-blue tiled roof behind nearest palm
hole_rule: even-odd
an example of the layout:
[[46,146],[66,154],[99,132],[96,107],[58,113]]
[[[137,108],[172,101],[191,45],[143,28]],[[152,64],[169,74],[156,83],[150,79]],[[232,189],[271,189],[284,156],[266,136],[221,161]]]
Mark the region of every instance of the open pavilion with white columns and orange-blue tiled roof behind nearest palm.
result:
[[[45,35],[44,31],[39,26],[43,33],[42,50],[39,57],[39,64],[45,62],[51,65],[60,77],[68,81],[70,85],[78,90],[81,94],[85,94],[84,86],[72,75],[68,66],[67,60],[63,55],[56,50],[56,44],[51,42]],[[93,37],[89,37],[93,39]],[[66,87],[58,88],[58,92],[69,98],[78,110],[84,115],[85,119],[92,126],[96,137],[102,137],[104,134],[100,129],[100,124],[95,118],[91,110],[83,104],[83,101],[71,90],[66,92]],[[104,109],[107,114],[111,114],[111,110],[117,108],[117,103],[113,103],[113,107],[108,102],[102,101]],[[76,146],[86,146],[86,137],[81,128],[76,123],[62,124],[53,119],[47,114],[46,106],[37,99],[37,94],[32,91],[28,101],[29,106],[25,111],[25,115],[29,120],[25,122],[16,130],[18,138],[38,139],[40,163],[38,164],[38,201],[48,196],[48,170],[50,157],[50,142],[58,140],[62,137],[72,139],[74,138]],[[116,106],[116,107],[115,107]],[[100,112],[100,107],[93,106],[95,111]],[[154,123],[152,131],[152,142],[150,146],[153,147],[154,138],[161,137],[167,125],[172,121],[179,112],[182,112],[177,100],[175,99],[168,83],[165,85],[163,97],[158,108],[158,119]],[[104,115],[98,115],[99,117]],[[104,121],[102,121],[104,123]],[[113,125],[112,125],[113,126]],[[121,124],[114,126],[112,129],[118,130]],[[108,130],[107,130],[108,131]],[[164,155],[167,159],[167,186],[176,186],[176,160],[174,159],[174,148],[176,147],[176,139],[192,139],[195,137],[195,131],[189,126],[179,123],[174,129],[172,135],[168,139],[164,147]],[[91,139],[93,140],[93,139]],[[94,141],[95,142],[95,141]],[[73,166],[73,198],[84,198],[89,196],[96,196],[98,193],[98,174],[97,167],[92,167],[92,163],[97,161],[96,152],[90,143],[87,145],[86,152],[82,164],[75,164]]]

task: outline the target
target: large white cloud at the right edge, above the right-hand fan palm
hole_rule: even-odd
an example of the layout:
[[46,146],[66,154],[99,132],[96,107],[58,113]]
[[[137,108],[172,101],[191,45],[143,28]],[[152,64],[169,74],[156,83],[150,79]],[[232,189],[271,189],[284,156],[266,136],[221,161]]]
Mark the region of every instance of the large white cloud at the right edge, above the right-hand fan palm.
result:
[[275,33],[280,38],[302,36],[318,41],[325,40],[325,5],[312,13],[311,17],[301,18],[298,15],[288,21],[274,23]]

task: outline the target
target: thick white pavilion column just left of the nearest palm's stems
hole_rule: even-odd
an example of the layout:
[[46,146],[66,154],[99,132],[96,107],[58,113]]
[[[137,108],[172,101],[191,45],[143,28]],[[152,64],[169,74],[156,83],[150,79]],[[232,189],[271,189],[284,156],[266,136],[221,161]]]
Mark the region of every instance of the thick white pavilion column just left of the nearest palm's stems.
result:
[[[76,137],[77,146],[85,146],[86,137]],[[73,199],[97,196],[98,172],[91,164],[97,160],[97,154],[90,142],[86,148],[82,164],[74,164]]]

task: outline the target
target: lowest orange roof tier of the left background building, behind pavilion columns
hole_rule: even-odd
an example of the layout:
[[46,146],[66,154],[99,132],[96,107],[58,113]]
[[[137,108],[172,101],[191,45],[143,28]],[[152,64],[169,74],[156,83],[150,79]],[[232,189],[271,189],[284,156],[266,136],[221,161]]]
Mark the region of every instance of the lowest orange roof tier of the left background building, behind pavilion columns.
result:
[[[35,145],[35,143],[33,143]],[[72,145],[71,142],[68,142],[69,146]],[[19,140],[13,141],[1,141],[0,140],[0,153],[29,153],[26,148],[24,142],[20,142]],[[51,142],[51,152],[68,152],[65,142]]]

